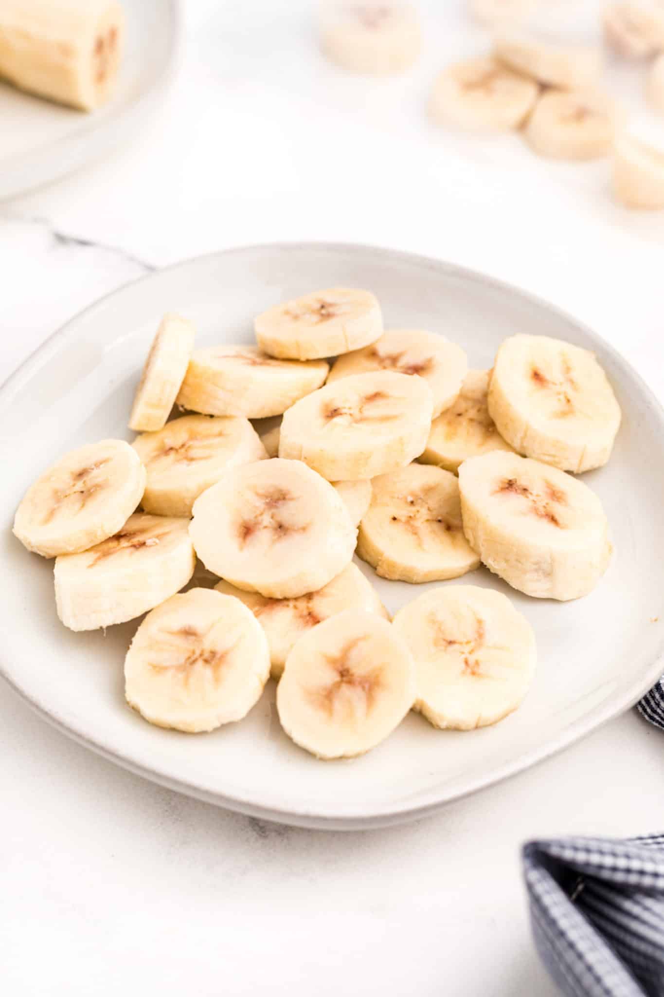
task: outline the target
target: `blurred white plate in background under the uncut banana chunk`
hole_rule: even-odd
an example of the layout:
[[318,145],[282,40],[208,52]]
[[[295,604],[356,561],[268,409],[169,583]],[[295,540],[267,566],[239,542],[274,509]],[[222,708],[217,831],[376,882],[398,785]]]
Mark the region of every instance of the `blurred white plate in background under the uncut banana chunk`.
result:
[[23,94],[0,81],[0,197],[49,183],[101,159],[152,113],[174,67],[178,0],[122,0],[126,51],[117,89],[92,114]]

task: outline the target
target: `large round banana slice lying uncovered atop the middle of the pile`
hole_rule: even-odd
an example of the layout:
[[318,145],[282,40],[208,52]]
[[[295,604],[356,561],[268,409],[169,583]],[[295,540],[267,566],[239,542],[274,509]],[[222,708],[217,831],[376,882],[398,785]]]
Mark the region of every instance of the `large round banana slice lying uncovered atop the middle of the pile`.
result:
[[238,588],[286,599],[315,592],[350,562],[356,530],[320,475],[299,461],[228,470],[196,499],[196,553]]

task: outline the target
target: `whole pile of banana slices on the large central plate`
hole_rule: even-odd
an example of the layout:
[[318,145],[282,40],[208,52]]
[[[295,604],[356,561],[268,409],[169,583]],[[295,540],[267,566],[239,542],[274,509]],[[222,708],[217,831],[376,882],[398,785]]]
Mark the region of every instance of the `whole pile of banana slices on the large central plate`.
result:
[[[278,304],[255,332],[256,346],[194,349],[191,323],[166,315],[133,444],[84,446],[28,490],[14,533],[55,557],[60,619],[82,631],[147,614],[125,694],[160,727],[238,721],[270,675],[284,730],[323,759],[366,752],[411,709],[437,728],[501,720],[536,663],[511,601],[439,586],[390,622],[352,557],[411,583],[482,563],[530,596],[585,595],[611,545],[599,498],[569,472],[611,454],[620,410],[603,370],[531,335],[468,370],[442,336],[384,331],[354,288]],[[189,587],[197,558],[214,589]]]

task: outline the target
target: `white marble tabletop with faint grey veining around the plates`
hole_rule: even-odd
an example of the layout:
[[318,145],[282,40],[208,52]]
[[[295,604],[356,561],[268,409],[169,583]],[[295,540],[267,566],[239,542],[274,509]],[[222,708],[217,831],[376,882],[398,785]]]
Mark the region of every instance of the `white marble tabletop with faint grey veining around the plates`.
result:
[[[304,4],[189,0],[176,86],[131,148],[0,204],[0,378],[152,267],[315,238],[430,253],[535,291],[664,398],[662,215],[614,207],[605,164],[546,164],[516,138],[429,128],[436,68],[483,40],[441,12],[428,23],[416,72],[378,84],[322,62]],[[664,736],[634,712],[434,819],[364,833],[282,829],[178,797],[57,734],[4,686],[0,729],[0,988],[12,997],[550,997],[521,843],[664,825]]]

